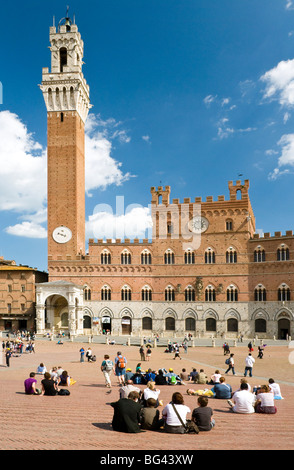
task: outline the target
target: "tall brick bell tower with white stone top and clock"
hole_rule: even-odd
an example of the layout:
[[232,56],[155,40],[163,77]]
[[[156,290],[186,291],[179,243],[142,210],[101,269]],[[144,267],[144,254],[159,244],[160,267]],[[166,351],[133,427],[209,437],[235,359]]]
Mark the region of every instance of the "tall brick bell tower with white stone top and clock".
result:
[[48,260],[85,253],[85,121],[89,86],[84,43],[68,17],[50,27],[51,71],[42,69],[47,108]]

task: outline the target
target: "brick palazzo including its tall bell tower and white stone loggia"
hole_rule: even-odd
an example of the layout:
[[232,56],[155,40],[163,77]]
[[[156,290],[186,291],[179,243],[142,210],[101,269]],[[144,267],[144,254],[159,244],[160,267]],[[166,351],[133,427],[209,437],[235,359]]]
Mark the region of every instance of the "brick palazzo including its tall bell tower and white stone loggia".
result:
[[36,288],[37,332],[151,332],[171,337],[293,335],[293,234],[255,234],[249,181],[229,198],[170,201],[151,188],[152,240],[89,240],[85,252],[84,125],[90,108],[83,41],[65,18],[50,28],[49,283]]

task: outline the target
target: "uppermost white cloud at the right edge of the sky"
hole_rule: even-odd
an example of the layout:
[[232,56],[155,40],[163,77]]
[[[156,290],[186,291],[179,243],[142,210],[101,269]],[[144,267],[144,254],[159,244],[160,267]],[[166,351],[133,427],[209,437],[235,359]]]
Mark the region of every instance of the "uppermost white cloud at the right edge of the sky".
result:
[[278,100],[282,106],[294,106],[294,59],[282,60],[260,77],[266,85],[264,98]]

